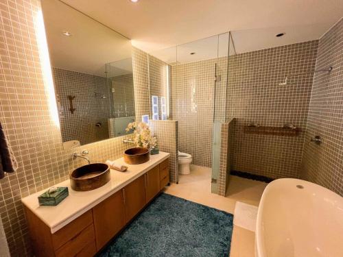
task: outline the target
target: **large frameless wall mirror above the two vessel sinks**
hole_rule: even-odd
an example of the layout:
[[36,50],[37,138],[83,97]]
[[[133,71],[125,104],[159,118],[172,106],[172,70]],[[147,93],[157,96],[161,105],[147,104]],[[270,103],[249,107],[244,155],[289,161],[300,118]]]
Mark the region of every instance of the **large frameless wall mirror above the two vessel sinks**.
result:
[[42,8],[64,147],[125,135],[135,117],[130,40],[59,0]]

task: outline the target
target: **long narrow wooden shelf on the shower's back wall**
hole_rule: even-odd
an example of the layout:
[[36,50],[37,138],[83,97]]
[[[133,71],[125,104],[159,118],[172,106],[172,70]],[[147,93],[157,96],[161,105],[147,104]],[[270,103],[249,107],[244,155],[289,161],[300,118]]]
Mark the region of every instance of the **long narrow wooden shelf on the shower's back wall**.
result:
[[243,126],[244,133],[247,134],[261,134],[261,135],[273,135],[273,136],[298,136],[301,132],[300,127],[295,129],[289,129],[285,127],[250,127]]

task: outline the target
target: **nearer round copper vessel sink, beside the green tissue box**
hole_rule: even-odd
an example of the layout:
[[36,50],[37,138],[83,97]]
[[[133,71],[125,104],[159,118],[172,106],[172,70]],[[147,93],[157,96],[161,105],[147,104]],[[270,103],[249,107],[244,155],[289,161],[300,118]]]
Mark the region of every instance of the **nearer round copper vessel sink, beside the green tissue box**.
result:
[[92,163],[75,169],[70,174],[70,185],[75,191],[91,191],[110,181],[110,167]]

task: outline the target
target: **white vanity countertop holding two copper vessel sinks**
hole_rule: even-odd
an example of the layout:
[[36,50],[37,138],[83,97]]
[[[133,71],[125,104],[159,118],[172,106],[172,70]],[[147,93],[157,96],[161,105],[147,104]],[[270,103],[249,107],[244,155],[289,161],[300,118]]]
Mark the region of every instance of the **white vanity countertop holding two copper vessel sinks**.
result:
[[39,206],[38,196],[47,191],[39,191],[21,199],[23,204],[32,210],[51,229],[51,233],[63,228],[74,219],[80,217],[84,212],[91,210],[94,206],[104,201],[110,195],[113,195],[121,188],[130,184],[136,178],[139,178],[145,172],[149,171],[157,164],[167,159],[170,154],[160,151],[159,154],[151,155],[148,162],[142,164],[126,164],[123,158],[119,158],[117,163],[128,167],[126,172],[110,170],[110,182],[104,186],[92,191],[78,192],[73,191],[70,187],[69,180],[60,182],[55,186],[67,186],[69,196],[64,199],[58,206]]

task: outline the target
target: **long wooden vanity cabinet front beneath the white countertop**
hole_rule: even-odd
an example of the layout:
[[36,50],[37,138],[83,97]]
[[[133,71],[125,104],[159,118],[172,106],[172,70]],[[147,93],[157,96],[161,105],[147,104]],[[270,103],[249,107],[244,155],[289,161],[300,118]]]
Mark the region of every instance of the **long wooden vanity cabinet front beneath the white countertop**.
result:
[[34,212],[25,207],[35,256],[95,256],[168,183],[169,159],[156,165],[54,234],[51,234],[50,228]]

